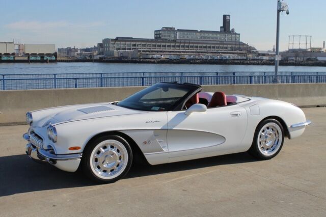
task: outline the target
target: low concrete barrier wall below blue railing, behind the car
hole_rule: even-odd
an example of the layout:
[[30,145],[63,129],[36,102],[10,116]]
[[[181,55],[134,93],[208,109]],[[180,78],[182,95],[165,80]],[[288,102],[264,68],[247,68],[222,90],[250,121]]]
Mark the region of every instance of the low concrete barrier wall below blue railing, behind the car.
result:
[[[0,91],[0,125],[24,123],[25,113],[40,108],[124,99],[144,87]],[[326,84],[219,85],[204,91],[223,91],[279,99],[299,106],[326,105]]]

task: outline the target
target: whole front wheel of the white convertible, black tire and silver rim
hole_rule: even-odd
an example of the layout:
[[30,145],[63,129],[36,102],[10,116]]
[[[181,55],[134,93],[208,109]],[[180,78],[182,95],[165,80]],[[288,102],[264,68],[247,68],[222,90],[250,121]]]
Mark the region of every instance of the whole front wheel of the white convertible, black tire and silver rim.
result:
[[[112,141],[112,142],[116,141],[115,142],[116,144],[107,143],[108,141]],[[104,148],[106,147],[106,149],[103,149],[103,147]],[[115,151],[113,147],[117,147]],[[99,148],[102,148],[101,150],[106,150],[105,152],[102,151],[103,153],[101,151],[97,151],[100,152],[99,154],[101,154],[101,157],[97,157],[97,153],[95,153],[95,151],[98,150]],[[120,162],[121,156],[119,156],[119,154],[121,153],[123,156],[122,162]],[[125,160],[126,158],[127,160]],[[101,161],[102,163],[100,163]],[[100,166],[97,166],[99,168],[95,166],[97,162],[99,162],[100,164]],[[132,163],[132,150],[130,145],[125,139],[123,139],[119,135],[102,135],[92,140],[85,147],[83,152],[82,162],[80,165],[82,166],[82,170],[84,174],[87,177],[89,177],[91,180],[99,183],[113,183],[121,179],[123,176],[125,176],[128,173],[131,167],[131,163]],[[119,172],[116,172],[116,174],[112,175],[112,178],[110,177],[110,173],[115,172],[115,170],[111,169],[112,167],[109,168],[108,165],[114,165],[117,171],[119,169]],[[105,176],[105,174],[107,174],[107,176]]]

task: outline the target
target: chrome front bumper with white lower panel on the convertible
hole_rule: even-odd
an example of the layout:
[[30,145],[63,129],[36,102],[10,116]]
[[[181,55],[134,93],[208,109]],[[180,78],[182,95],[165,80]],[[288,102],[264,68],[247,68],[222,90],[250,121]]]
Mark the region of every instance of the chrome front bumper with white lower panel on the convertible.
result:
[[[28,133],[23,134],[23,139],[30,142]],[[57,168],[75,172],[78,169],[82,153],[77,154],[53,154],[51,150],[44,150],[43,148],[36,148],[33,144],[29,143],[25,146],[26,154],[37,161],[46,161]]]

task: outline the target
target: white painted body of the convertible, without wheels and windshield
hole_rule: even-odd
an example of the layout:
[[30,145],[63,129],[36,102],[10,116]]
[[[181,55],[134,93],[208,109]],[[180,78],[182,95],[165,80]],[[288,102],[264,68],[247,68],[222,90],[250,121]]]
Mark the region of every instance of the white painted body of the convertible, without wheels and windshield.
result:
[[[201,92],[200,97],[210,101],[212,94]],[[284,121],[290,139],[305,130],[305,126],[291,128],[305,122],[306,117],[290,103],[240,95],[227,97],[236,103],[190,115],[185,111],[136,111],[110,102],[48,108],[31,112],[30,130],[43,139],[43,149],[51,148],[55,154],[83,153],[87,143],[99,133],[118,131],[139,146],[151,165],[247,151],[257,125],[270,116]],[[56,127],[56,143],[47,137],[49,123]],[[72,146],[82,148],[69,150]],[[54,166],[74,172],[79,162],[80,159],[64,160]]]

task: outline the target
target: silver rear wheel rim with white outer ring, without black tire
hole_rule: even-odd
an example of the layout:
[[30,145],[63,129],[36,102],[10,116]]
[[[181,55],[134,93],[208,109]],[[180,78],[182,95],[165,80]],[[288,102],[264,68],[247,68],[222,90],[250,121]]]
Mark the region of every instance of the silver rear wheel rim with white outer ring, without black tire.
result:
[[257,140],[258,150],[263,155],[273,155],[280,149],[282,144],[282,130],[278,124],[269,122],[261,127]]

